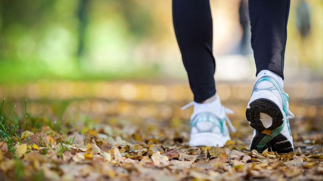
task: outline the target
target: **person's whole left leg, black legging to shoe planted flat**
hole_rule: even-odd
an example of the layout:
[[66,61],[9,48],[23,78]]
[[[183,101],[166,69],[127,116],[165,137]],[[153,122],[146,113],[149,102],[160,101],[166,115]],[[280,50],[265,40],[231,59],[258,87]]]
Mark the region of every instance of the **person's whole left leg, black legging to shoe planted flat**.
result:
[[228,111],[215,95],[210,2],[173,0],[172,3],[176,39],[194,95],[189,145],[224,146],[226,141],[230,140],[225,124]]

